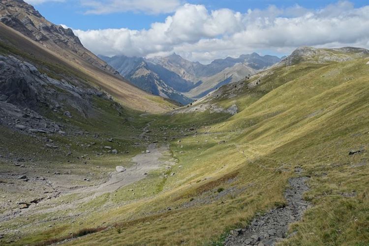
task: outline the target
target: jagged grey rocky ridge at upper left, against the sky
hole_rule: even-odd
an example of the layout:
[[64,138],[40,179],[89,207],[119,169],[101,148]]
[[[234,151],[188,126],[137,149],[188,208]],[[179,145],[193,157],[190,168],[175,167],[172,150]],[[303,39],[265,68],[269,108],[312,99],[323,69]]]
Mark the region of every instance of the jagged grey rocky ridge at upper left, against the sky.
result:
[[71,29],[64,29],[47,21],[33,6],[23,0],[1,0],[0,22],[64,57],[68,56],[65,50],[70,50],[90,64],[121,78],[119,72],[83,47]]

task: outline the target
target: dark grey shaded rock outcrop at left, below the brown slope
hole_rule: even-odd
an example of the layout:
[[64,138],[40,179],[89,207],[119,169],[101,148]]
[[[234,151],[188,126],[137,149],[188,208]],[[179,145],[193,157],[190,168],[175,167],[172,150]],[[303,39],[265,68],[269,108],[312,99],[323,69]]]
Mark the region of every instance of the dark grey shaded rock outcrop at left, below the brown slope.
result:
[[43,117],[44,112],[72,118],[68,110],[73,109],[88,118],[95,113],[93,96],[109,99],[76,78],[70,80],[50,78],[29,62],[0,56],[0,124],[29,134],[56,133],[62,125]]

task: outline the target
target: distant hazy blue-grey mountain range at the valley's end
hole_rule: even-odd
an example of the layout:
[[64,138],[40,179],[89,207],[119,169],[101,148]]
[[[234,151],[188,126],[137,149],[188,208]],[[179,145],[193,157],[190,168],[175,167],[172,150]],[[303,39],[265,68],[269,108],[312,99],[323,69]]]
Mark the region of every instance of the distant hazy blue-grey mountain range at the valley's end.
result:
[[210,64],[190,62],[173,53],[168,57],[99,56],[139,88],[188,104],[216,88],[236,82],[280,61],[257,53],[217,59]]

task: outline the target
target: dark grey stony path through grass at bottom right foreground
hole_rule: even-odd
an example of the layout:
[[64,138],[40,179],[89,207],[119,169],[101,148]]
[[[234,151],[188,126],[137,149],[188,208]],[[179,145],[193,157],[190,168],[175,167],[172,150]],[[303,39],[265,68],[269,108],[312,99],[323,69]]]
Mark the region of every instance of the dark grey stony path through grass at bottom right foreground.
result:
[[[301,169],[295,169],[300,174]],[[231,231],[226,238],[226,246],[274,246],[286,235],[290,223],[301,219],[309,204],[304,201],[303,194],[308,190],[307,177],[291,178],[284,196],[287,204],[284,207],[274,208],[265,215],[254,218],[246,228]]]

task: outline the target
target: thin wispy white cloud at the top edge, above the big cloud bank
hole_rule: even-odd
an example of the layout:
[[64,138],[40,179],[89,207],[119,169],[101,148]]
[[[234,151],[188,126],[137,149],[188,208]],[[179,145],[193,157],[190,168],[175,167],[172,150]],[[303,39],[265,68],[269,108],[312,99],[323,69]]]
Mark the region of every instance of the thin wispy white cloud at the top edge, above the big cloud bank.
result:
[[147,14],[172,13],[181,5],[179,0],[83,0],[86,14],[144,12]]

